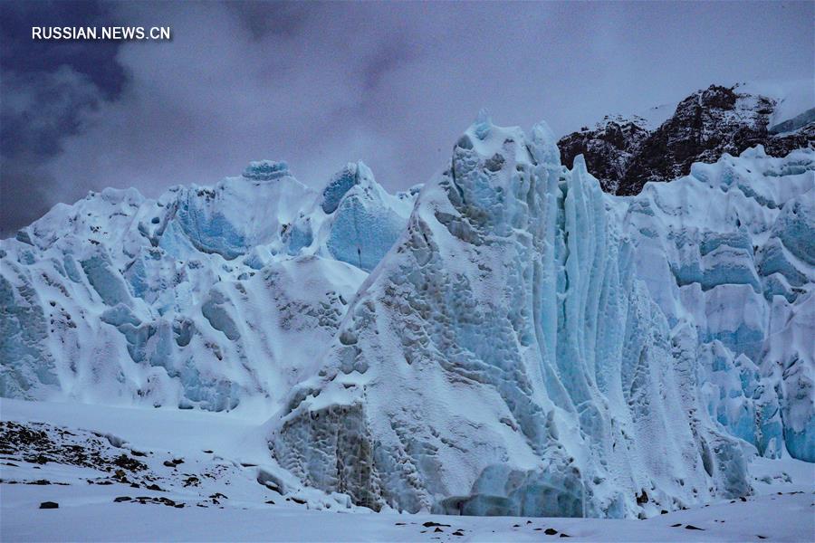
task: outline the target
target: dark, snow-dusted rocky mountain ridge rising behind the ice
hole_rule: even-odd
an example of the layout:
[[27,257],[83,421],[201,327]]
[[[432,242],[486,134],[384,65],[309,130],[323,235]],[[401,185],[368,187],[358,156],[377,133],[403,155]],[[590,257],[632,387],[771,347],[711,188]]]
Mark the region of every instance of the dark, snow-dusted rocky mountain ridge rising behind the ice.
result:
[[[711,85],[676,106],[673,117],[647,129],[644,119],[606,118],[595,129],[581,129],[558,142],[563,163],[572,167],[582,154],[603,190],[636,195],[648,181],[668,181],[690,173],[694,162],[715,162],[762,144],[768,155],[815,145],[815,119],[807,113],[789,127],[768,123],[776,102]],[[792,131],[782,129],[795,128]],[[781,132],[781,133],[779,133]]]

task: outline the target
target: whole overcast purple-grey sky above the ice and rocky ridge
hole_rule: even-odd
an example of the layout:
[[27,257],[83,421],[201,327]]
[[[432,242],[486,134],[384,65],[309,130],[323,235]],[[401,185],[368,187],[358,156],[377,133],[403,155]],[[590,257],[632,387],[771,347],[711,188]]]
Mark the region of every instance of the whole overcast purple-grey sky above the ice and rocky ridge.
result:
[[[210,185],[362,159],[393,190],[486,108],[558,134],[711,83],[815,77],[813,2],[0,2],[3,237],[88,190]],[[171,42],[33,42],[32,25],[171,26]]]

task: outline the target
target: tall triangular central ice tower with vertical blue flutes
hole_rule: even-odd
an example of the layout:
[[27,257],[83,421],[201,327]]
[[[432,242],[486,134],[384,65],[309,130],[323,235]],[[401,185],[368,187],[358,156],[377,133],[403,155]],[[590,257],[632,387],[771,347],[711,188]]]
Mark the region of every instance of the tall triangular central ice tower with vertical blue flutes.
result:
[[623,517],[749,492],[606,207],[548,128],[479,119],[268,424],[277,459],[374,509]]

